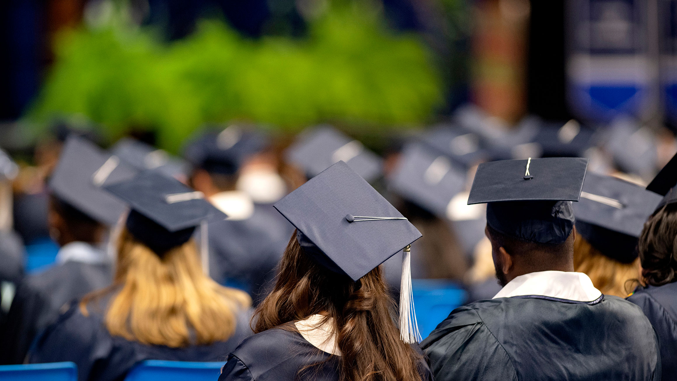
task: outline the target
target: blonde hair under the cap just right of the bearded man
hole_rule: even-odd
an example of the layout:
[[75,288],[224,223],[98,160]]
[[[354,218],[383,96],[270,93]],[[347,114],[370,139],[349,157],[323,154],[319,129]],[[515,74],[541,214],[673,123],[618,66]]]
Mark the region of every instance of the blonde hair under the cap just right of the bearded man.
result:
[[590,245],[580,234],[573,242],[573,268],[586,273],[602,294],[625,298],[638,284],[639,258],[631,263],[613,260]]

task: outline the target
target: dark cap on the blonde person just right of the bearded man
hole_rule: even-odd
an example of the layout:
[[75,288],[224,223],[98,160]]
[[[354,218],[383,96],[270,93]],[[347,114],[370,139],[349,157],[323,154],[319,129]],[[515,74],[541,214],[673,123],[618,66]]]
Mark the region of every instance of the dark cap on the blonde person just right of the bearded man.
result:
[[601,253],[629,263],[637,238],[661,197],[611,176],[587,174],[581,199],[573,205],[576,230]]

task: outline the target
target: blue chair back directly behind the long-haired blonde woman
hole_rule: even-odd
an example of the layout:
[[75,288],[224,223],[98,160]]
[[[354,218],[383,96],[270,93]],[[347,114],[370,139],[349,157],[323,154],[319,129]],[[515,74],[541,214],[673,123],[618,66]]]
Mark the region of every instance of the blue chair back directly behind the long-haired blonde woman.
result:
[[125,381],[216,381],[224,363],[146,360],[131,369]]

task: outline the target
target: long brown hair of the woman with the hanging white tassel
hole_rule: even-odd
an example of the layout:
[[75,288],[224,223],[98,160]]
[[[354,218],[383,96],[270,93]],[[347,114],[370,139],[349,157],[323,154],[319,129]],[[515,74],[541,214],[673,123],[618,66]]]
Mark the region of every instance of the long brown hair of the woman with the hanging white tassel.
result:
[[314,314],[334,318],[342,381],[413,381],[422,357],[399,338],[380,266],[353,281],[309,258],[292,235],[278,281],[255,312],[254,332]]

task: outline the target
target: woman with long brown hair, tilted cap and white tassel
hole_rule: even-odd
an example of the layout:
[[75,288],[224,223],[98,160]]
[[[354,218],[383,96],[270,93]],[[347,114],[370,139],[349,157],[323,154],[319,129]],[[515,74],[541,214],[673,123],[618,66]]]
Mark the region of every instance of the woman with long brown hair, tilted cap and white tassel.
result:
[[[418,230],[343,161],[275,207],[297,230],[255,313],[256,334],[219,381],[430,380],[411,301]],[[402,249],[398,330],[379,265]]]

